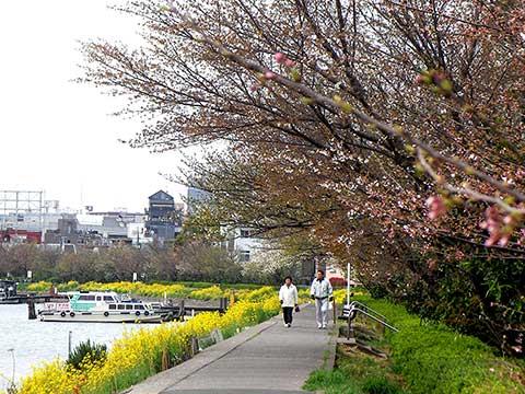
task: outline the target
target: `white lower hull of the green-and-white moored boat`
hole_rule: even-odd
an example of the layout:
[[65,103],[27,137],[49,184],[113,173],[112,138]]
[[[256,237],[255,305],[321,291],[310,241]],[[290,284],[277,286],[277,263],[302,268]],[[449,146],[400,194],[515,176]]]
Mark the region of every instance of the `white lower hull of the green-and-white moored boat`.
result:
[[133,312],[42,312],[42,322],[68,322],[68,323],[161,323],[162,316],[156,313],[140,315]]

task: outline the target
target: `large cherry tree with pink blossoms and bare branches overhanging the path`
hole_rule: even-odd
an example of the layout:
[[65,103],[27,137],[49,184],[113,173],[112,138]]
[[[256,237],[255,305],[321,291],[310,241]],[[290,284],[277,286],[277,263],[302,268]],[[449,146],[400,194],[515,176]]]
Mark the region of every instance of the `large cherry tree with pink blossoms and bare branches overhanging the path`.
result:
[[463,274],[464,298],[480,300],[469,318],[488,316],[488,340],[522,349],[505,333],[523,332],[524,283],[490,264],[525,269],[523,1],[122,11],[142,19],[144,47],[85,44],[84,80],[129,97],[125,112],[145,125],[135,147],[225,144],[190,166],[217,218],[302,233],[404,297],[458,289]]

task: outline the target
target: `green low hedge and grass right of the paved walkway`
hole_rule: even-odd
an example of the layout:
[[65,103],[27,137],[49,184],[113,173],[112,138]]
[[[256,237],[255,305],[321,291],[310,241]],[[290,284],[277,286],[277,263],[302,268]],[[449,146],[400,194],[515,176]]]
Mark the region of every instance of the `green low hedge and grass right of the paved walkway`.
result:
[[306,390],[326,393],[525,393],[525,362],[499,357],[476,337],[422,323],[405,308],[357,297],[400,329],[371,345],[390,352],[387,361],[338,350],[336,369],[316,371]]

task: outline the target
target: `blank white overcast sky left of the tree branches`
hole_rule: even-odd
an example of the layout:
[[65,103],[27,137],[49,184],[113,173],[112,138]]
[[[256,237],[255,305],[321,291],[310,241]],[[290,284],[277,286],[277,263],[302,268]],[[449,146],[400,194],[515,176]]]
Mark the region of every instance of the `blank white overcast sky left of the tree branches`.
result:
[[25,0],[0,3],[1,189],[45,190],[62,207],[142,210],[165,189],[184,187],[177,155],[151,154],[117,140],[139,121],[112,116],[124,99],[71,82],[81,76],[79,40],[104,37],[137,45],[136,21],[107,9],[121,0]]

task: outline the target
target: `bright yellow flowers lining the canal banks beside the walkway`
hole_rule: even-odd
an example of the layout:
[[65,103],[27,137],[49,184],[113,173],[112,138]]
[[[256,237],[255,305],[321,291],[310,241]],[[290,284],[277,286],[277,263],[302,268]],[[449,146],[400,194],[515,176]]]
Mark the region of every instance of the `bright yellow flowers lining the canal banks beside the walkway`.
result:
[[[180,291],[180,285],[144,283],[84,283],[85,290],[107,289],[121,292]],[[220,289],[219,289],[220,290]],[[222,292],[222,290],[220,290]],[[217,289],[202,289],[200,294],[218,294]],[[107,354],[104,362],[86,358],[80,371],[71,369],[61,360],[44,363],[33,370],[33,374],[23,379],[21,393],[26,394],[73,394],[73,393],[115,393],[135,384],[156,372],[166,362],[168,367],[182,362],[188,357],[191,338],[203,337],[220,328],[235,333],[246,326],[280,312],[277,292],[271,287],[246,291],[241,300],[226,313],[201,313],[185,323],[164,323],[147,329],[126,331]],[[164,366],[166,367],[166,366]]]

